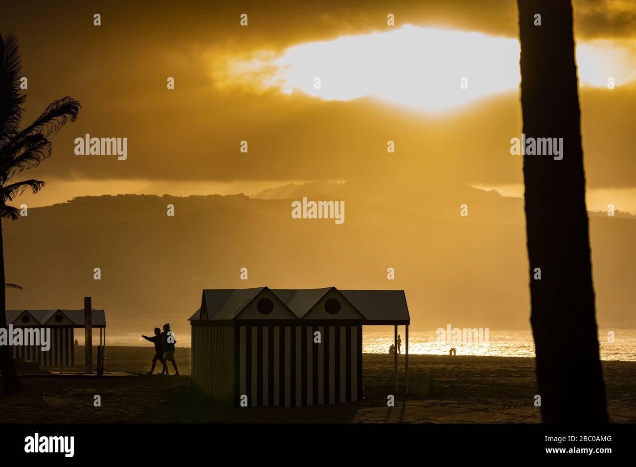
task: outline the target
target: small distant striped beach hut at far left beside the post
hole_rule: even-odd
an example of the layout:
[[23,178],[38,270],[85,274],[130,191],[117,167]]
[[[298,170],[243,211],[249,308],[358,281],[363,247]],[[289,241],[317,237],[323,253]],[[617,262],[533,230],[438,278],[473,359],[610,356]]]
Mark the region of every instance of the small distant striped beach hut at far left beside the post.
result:
[[[14,328],[50,328],[51,348],[40,346],[11,346],[13,358],[33,360],[45,367],[69,367],[75,364],[74,330],[85,328],[81,309],[24,309],[7,310],[7,325]],[[106,341],[106,314],[103,309],[92,311],[92,327],[102,329]]]

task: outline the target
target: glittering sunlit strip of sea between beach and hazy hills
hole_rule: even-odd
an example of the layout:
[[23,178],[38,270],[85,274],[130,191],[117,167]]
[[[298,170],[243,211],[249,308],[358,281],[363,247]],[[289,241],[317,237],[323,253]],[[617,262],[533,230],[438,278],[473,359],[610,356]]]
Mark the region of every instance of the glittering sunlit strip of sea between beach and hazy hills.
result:
[[[376,332],[373,327],[364,327],[363,352],[364,353],[388,353],[393,343],[392,330],[389,332]],[[189,329],[188,329],[189,331]],[[607,333],[614,332],[614,342],[607,342]],[[402,351],[404,352],[404,328],[399,328],[402,337]],[[79,344],[83,345],[83,336],[78,335]],[[148,346],[151,342],[140,339],[139,333],[109,334],[107,345],[110,346]],[[450,344],[438,342],[434,331],[410,331],[408,336],[408,353],[428,355],[448,355],[448,349],[457,349],[457,355],[492,355],[492,356],[517,356],[534,357],[534,341],[532,332],[520,330],[489,330],[488,345]],[[180,335],[176,332],[177,347],[190,347],[191,337],[188,334]],[[601,360],[623,360],[636,362],[636,329],[601,329],[598,332],[600,342]],[[93,344],[97,345],[99,339]]]

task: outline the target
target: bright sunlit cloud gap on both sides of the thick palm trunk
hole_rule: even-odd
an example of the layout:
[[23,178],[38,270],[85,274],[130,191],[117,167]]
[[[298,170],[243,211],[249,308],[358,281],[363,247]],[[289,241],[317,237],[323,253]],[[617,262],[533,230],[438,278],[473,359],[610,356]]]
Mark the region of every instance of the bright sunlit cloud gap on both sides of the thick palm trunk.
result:
[[[391,32],[299,44],[279,57],[262,53],[228,63],[228,83],[301,91],[324,100],[375,97],[420,111],[445,111],[518,89],[517,39],[405,25]],[[577,46],[581,85],[630,81],[633,48],[597,41]],[[321,88],[315,89],[315,78]],[[461,88],[467,78],[467,89]],[[256,82],[255,82],[256,81]],[[218,83],[220,84],[220,83]]]

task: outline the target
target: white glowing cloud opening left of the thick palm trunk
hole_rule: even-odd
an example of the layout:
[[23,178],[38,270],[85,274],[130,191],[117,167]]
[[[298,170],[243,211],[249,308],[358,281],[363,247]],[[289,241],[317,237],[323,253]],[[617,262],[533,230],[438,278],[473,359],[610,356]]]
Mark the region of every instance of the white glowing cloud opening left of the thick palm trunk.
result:
[[[372,96],[425,111],[515,88],[518,63],[514,39],[410,25],[301,44],[274,62],[286,93],[296,88],[326,100]],[[321,78],[319,90],[314,89],[315,77]],[[463,77],[467,89],[460,88]]]

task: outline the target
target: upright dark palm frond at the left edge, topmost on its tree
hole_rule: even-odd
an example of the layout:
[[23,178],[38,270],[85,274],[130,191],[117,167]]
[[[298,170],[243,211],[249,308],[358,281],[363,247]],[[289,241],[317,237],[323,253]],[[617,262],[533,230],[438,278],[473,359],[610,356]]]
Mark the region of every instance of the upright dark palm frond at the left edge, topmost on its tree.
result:
[[18,51],[18,38],[9,32],[0,34],[0,143],[18,132],[22,107],[26,95],[20,94],[22,60]]

